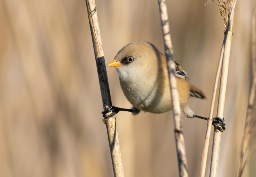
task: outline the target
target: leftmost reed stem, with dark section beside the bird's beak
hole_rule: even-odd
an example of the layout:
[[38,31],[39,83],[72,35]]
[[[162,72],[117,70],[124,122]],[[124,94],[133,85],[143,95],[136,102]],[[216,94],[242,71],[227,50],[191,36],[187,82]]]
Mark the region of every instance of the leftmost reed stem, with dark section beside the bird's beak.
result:
[[[99,85],[101,89],[101,98],[104,111],[106,111],[107,108],[112,106],[112,102],[110,97],[110,89],[108,85],[108,75],[106,71],[105,58],[102,49],[101,33],[99,30],[99,21],[96,11],[96,5],[94,0],[85,0],[85,2],[87,6],[87,13],[92,34],[92,44],[96,59]],[[117,134],[116,118],[114,116],[111,116],[106,119],[103,119],[103,122],[106,124],[107,128],[108,143],[110,146],[114,175],[115,177],[124,177],[124,169]]]

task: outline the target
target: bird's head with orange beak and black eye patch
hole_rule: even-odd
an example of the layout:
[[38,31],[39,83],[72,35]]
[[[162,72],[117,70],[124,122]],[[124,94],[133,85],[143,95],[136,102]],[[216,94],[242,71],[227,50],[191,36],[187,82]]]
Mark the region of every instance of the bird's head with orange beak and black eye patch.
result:
[[161,55],[150,42],[134,42],[124,46],[108,67],[116,67],[121,80],[137,80],[158,70]]

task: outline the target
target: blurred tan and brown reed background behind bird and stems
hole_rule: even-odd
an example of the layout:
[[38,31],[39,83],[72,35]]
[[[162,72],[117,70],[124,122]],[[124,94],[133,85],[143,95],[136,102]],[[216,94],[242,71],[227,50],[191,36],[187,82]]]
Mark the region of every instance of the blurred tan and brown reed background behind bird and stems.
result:
[[[216,4],[206,2],[167,0],[175,60],[207,95],[190,101],[202,116],[209,115],[225,29]],[[253,4],[236,4],[218,177],[236,175],[251,82]],[[135,41],[164,52],[157,0],[96,5],[106,63]],[[0,22],[0,177],[112,177],[85,1],[1,0]],[[112,103],[130,108],[117,71],[107,71]],[[188,171],[196,177],[207,122],[182,120]],[[120,112],[117,129],[126,177],[178,176],[171,112]],[[255,176],[255,164],[256,156],[244,176]]]

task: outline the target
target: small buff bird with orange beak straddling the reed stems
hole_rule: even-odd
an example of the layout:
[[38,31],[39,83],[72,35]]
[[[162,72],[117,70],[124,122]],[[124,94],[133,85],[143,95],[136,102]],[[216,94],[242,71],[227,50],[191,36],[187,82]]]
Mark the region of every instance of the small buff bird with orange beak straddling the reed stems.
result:
[[[177,90],[182,113],[188,118],[207,117],[195,115],[189,108],[190,97],[206,98],[198,87],[189,83],[186,71],[175,61]],[[126,99],[132,104],[131,109],[112,106],[108,111],[113,114],[129,111],[137,115],[140,111],[148,113],[165,113],[171,111],[171,91],[166,65],[166,57],[150,42],[133,42],[124,46],[108,65],[115,67],[119,74],[119,82]],[[213,125],[220,131],[225,130],[224,118],[216,117]]]

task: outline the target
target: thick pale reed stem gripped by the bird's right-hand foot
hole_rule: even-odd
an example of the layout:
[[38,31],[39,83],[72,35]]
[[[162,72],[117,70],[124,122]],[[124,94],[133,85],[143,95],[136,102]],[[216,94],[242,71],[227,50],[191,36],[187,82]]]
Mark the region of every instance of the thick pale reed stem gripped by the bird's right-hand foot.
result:
[[[227,35],[222,68],[221,68],[221,77],[220,77],[220,93],[218,99],[218,109],[217,109],[217,117],[223,117],[224,112],[224,104],[225,104],[225,95],[226,95],[226,87],[227,87],[227,74],[229,69],[229,57],[231,50],[231,41],[232,41],[232,27],[233,27],[233,19],[234,19],[234,9],[236,6],[236,0],[233,2],[233,6],[229,15],[229,22],[227,25],[227,29],[225,32],[225,36]],[[220,140],[221,140],[221,132],[214,130],[213,135],[213,148],[211,154],[211,169],[210,169],[210,177],[217,176],[217,168],[219,162],[219,153],[220,153]]]

